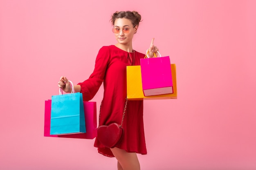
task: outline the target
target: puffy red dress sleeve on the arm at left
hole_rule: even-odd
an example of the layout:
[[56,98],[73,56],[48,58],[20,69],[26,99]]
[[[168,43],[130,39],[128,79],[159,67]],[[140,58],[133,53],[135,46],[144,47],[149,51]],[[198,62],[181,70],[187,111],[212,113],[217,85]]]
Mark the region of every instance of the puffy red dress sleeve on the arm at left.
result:
[[83,101],[91,100],[99,90],[102,82],[105,79],[106,69],[110,60],[110,52],[107,46],[103,46],[96,57],[95,67],[90,77],[82,83],[81,93],[83,94]]

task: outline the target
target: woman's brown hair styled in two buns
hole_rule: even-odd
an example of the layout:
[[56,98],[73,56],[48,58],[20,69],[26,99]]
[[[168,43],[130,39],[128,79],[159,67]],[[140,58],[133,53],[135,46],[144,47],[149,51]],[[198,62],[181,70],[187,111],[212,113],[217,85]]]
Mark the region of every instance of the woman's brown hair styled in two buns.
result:
[[141,15],[137,11],[116,11],[111,16],[112,25],[115,24],[115,20],[117,18],[126,18],[132,22],[132,25],[139,26],[139,22],[141,22]]

